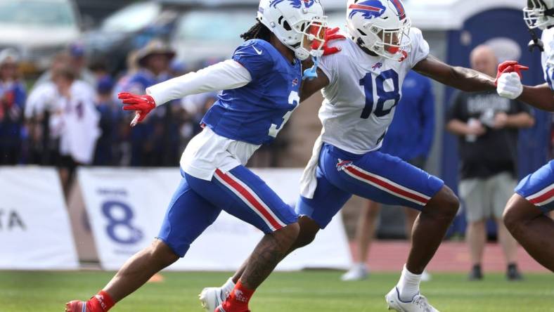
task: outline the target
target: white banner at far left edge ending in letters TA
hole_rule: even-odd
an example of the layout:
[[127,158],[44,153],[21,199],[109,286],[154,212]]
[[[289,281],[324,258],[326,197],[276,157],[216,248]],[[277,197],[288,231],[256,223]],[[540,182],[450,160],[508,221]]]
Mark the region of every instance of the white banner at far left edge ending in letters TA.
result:
[[78,267],[56,170],[0,167],[0,269]]

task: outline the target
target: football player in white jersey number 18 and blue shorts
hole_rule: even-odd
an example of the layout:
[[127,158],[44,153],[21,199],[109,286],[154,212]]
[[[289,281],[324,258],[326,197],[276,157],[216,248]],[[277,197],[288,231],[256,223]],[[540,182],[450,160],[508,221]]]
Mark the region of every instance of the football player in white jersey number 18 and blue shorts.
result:
[[[458,198],[439,178],[379,148],[409,70],[463,91],[494,90],[495,79],[430,56],[400,0],[349,0],[347,26],[349,38],[334,43],[340,53],[323,57],[318,78],[302,86],[302,100],[323,89],[323,130],[302,176],[296,207],[301,229],[289,252],[314,240],[352,194],[418,209],[408,260],[385,298],[396,311],[437,311],[420,294],[420,278],[456,216]],[[208,311],[240,274],[222,287],[202,290]]]

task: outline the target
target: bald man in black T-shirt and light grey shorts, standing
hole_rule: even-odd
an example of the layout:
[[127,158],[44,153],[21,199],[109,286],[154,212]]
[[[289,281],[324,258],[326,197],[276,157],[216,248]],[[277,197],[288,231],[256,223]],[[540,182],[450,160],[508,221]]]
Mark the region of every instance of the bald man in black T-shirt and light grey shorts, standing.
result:
[[[498,60],[488,46],[477,46],[471,52],[470,63],[479,72],[496,75]],[[502,213],[517,183],[517,130],[534,124],[530,110],[494,91],[460,92],[453,98],[447,119],[446,129],[458,136],[459,195],[468,221],[466,240],[472,261],[469,279],[483,278],[486,221],[494,218],[507,263],[507,278],[520,280],[517,242],[506,230]]]

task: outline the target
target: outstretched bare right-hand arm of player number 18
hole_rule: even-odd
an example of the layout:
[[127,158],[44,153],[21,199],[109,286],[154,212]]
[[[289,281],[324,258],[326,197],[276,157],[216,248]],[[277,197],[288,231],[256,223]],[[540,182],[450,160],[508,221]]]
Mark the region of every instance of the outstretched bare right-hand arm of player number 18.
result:
[[413,70],[437,80],[437,82],[466,92],[496,89],[493,77],[469,68],[448,65],[431,55],[420,60]]

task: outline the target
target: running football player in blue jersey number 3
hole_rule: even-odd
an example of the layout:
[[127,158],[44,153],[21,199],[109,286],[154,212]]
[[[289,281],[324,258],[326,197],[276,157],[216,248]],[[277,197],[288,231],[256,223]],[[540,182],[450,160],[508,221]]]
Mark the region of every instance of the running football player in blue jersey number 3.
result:
[[262,0],[257,20],[231,60],[151,86],[146,95],[120,93],[124,110],[136,111],[135,125],[169,100],[224,90],[183,152],[183,178],[152,245],[127,260],[101,292],[68,302],[65,311],[108,311],[183,257],[223,209],[266,233],[234,290],[215,308],[246,312],[253,292],[295,242],[297,214],[245,164],[260,145],[273,141],[297,107],[301,62],[311,56],[317,63],[323,54],[326,16],[319,0]]

